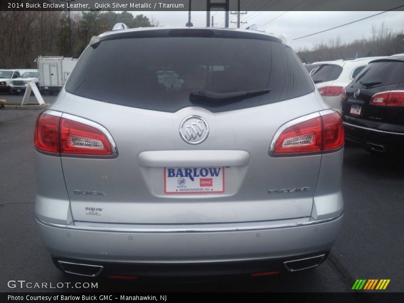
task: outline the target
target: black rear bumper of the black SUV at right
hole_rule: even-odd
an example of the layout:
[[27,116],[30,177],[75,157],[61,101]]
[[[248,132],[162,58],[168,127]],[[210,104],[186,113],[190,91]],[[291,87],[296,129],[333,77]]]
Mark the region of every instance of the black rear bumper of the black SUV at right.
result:
[[404,151],[404,133],[377,130],[348,122],[343,122],[343,125],[346,140],[359,143],[368,149],[372,144],[376,144],[391,153]]

